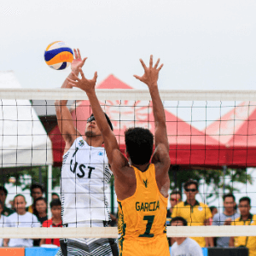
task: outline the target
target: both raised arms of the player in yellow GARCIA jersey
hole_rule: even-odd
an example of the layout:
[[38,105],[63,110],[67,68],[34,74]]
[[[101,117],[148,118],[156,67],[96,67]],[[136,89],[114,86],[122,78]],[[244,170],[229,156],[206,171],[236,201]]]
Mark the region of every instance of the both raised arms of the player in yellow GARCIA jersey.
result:
[[[159,60],[160,61],[160,60]],[[169,177],[168,169],[170,166],[170,159],[168,154],[168,141],[166,133],[166,121],[165,113],[162,102],[160,101],[159,91],[157,87],[158,74],[160,72],[158,64],[159,61],[153,67],[153,56],[150,57],[149,67],[146,67],[142,62],[145,73],[143,77],[135,76],[137,79],[140,79],[143,83],[148,85],[150,95],[153,99],[153,108],[154,108],[154,118],[155,118],[155,145],[156,150],[153,157],[153,162],[156,166],[156,179],[160,192],[162,195],[167,195],[169,188]],[[104,138],[105,148],[108,155],[108,161],[113,171],[115,177],[115,190],[119,200],[124,200],[127,197],[130,197],[134,194],[136,189],[136,177],[133,168],[128,164],[128,161],[125,159],[124,155],[119,151],[119,145],[117,143],[116,137],[111,131],[107,119],[102,111],[100,103],[96,97],[95,85],[97,73],[95,73],[93,79],[85,79],[82,69],[79,69],[82,79],[79,79],[77,76],[75,80],[68,79],[72,86],[79,87],[84,90],[90,100],[90,105],[92,112],[95,115],[96,123],[102,131],[102,136]],[[75,74],[74,74],[75,75]],[[164,136],[163,136],[164,134]],[[164,174],[164,177],[160,177],[161,174]]]

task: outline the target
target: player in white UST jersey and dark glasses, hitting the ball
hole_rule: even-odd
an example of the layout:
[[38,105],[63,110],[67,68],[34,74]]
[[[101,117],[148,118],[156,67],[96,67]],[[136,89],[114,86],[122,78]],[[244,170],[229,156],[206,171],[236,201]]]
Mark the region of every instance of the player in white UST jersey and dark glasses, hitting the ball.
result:
[[[79,49],[74,49],[73,73],[84,66]],[[73,79],[73,73],[68,78]],[[61,88],[72,88],[67,79]],[[56,101],[59,129],[66,143],[61,168],[61,216],[67,227],[104,227],[109,220],[105,189],[112,172],[102,148],[102,133],[92,114],[87,120],[85,139],[73,125],[67,101]],[[108,119],[108,115],[106,118]],[[85,119],[86,117],[84,117]],[[87,117],[88,118],[88,117]],[[113,130],[110,119],[108,124]],[[63,239],[57,255],[118,255],[117,245],[110,239]]]

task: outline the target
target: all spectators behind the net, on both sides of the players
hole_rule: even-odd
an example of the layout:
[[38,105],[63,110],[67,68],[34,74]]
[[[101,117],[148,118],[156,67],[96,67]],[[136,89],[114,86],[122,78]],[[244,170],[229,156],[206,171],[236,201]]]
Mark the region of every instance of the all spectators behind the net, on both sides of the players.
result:
[[[223,196],[223,212],[217,207],[197,201],[199,183],[189,180],[184,183],[185,201],[178,189],[170,194],[171,207],[167,210],[166,225],[168,226],[202,226],[202,225],[255,225],[256,215],[251,210],[251,200],[241,197],[238,207],[233,194]],[[0,186],[0,226],[1,227],[61,227],[61,201],[59,195],[52,194],[50,211],[52,218],[47,217],[47,201],[44,188],[39,183],[31,186],[32,205],[26,207],[24,195],[15,195],[13,209],[5,205],[7,189]],[[116,224],[116,217],[113,222]],[[43,244],[60,246],[59,239],[0,239],[0,247],[32,247]],[[189,255],[202,255],[201,247],[247,247],[249,256],[256,256],[256,237],[172,237],[169,238],[172,256],[191,252]],[[194,252],[194,253],[193,253]]]

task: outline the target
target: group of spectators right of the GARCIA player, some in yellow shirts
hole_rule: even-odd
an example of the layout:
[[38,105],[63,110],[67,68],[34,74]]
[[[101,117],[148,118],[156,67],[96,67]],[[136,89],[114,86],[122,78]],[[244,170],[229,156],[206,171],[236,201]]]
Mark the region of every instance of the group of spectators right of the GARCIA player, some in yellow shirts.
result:
[[[167,211],[166,224],[171,226],[201,226],[201,225],[256,225],[256,215],[251,210],[249,197],[241,197],[236,207],[236,197],[233,194],[223,196],[224,211],[218,212],[217,207],[195,200],[199,193],[199,184],[194,180],[184,183],[186,200],[181,201],[182,194],[175,189],[170,194],[171,208]],[[238,211],[237,211],[238,210]],[[256,256],[255,236],[234,237],[172,237],[169,239],[172,256],[202,255],[199,247],[247,247],[249,256]],[[193,253],[194,252],[194,253]]]

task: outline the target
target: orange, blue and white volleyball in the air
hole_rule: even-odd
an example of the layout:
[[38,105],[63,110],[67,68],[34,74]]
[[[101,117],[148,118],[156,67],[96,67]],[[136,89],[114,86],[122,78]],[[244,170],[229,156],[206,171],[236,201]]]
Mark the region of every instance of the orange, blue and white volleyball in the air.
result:
[[73,61],[73,50],[65,42],[56,41],[45,49],[44,61],[55,70],[65,69]]

